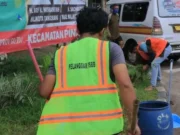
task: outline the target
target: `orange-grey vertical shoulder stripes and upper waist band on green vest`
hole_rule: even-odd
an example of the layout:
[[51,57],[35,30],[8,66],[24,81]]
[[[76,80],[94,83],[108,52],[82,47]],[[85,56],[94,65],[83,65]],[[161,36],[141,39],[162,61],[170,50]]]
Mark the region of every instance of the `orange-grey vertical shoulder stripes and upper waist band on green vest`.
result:
[[114,84],[107,84],[107,68],[106,68],[106,51],[105,51],[105,46],[106,42],[103,41],[98,41],[98,52],[99,55],[97,56],[97,62],[98,62],[98,80],[99,80],[99,85],[98,86],[85,86],[85,87],[67,87],[66,84],[66,68],[61,68],[60,65],[66,65],[66,49],[67,47],[62,48],[58,52],[58,58],[60,61],[58,63],[58,82],[57,88],[54,89],[51,98],[54,97],[59,97],[59,96],[74,96],[74,95],[89,95],[89,94],[107,94],[107,93],[114,93],[117,92],[117,88],[115,87]]

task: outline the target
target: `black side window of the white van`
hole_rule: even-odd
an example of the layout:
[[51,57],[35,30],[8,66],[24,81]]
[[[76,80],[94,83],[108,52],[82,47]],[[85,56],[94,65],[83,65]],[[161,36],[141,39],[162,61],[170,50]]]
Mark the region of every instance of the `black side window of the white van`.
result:
[[149,2],[129,3],[123,8],[123,22],[143,22],[146,18]]

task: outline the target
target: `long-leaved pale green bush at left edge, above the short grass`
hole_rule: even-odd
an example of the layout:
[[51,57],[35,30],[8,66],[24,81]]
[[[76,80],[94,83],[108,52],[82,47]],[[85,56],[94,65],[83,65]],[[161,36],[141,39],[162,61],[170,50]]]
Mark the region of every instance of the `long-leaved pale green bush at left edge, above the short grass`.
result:
[[11,105],[30,104],[37,97],[37,77],[28,74],[14,74],[14,77],[0,77],[0,108]]

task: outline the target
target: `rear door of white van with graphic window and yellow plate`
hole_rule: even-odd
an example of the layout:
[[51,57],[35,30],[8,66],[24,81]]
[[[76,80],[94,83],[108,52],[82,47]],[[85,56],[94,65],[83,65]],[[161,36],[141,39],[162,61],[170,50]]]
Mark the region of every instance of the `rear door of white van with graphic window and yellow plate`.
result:
[[180,0],[157,0],[163,37],[180,53]]

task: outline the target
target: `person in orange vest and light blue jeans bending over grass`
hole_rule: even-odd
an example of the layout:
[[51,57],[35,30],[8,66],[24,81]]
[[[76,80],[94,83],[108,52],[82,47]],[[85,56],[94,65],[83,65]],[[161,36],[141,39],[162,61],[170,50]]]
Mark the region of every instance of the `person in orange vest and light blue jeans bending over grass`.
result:
[[148,61],[148,64],[143,66],[143,70],[147,70],[151,66],[151,85],[145,90],[153,90],[157,86],[157,82],[160,83],[160,64],[167,59],[171,51],[171,45],[160,38],[148,38],[145,43],[141,43],[137,47],[137,52],[144,60]]

